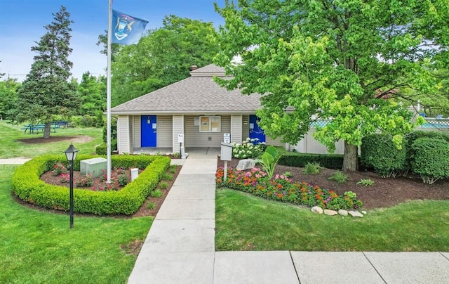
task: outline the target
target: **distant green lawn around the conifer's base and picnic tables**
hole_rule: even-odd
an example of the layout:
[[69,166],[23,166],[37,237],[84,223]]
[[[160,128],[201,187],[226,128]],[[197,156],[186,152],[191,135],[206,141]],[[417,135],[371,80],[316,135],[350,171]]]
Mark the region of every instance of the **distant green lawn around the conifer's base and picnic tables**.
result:
[[[8,124],[5,121],[0,122],[0,158],[10,157],[37,157],[43,154],[62,154],[69,147],[69,141],[60,141],[52,143],[22,143],[17,141],[22,138],[42,137],[42,134],[24,134],[20,130],[22,124]],[[51,136],[90,136],[93,140],[86,143],[76,143],[74,146],[83,154],[95,153],[95,146],[102,143],[102,129],[100,128],[59,128],[56,133],[51,131]]]

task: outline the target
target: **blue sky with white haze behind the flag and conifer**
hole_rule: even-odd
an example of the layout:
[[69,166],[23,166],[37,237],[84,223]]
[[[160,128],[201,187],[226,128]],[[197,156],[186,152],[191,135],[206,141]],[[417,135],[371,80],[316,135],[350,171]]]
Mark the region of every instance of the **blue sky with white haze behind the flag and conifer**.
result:
[[[148,29],[161,27],[165,15],[213,22],[215,27],[224,20],[213,3],[224,6],[225,0],[114,0],[114,10],[149,20]],[[72,74],[81,78],[83,72],[105,75],[106,56],[100,54],[98,35],[107,30],[108,0],[1,0],[0,8],[0,72],[6,77],[25,78],[36,53],[31,46],[45,34],[44,25],[53,20],[52,13],[66,6],[72,24],[70,60]]]

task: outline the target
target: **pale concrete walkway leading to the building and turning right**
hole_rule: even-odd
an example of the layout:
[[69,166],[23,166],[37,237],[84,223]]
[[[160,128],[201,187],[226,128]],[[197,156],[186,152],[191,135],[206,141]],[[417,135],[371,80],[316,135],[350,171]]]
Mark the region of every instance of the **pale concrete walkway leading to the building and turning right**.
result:
[[184,160],[128,283],[448,283],[448,252],[215,252],[218,153],[207,153]]

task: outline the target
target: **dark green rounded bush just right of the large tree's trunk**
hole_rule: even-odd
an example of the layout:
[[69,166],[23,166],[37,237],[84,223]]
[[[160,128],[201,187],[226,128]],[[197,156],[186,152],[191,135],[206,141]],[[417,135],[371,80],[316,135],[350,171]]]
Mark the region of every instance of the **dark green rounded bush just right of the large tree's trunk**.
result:
[[372,134],[362,138],[361,164],[382,177],[396,177],[407,172],[407,148],[403,141],[402,149],[398,150],[391,136]]

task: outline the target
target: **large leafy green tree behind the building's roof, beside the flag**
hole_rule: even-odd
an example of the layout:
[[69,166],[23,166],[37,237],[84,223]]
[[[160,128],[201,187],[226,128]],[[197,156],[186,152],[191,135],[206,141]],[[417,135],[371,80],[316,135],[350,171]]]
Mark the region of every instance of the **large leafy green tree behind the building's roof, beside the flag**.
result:
[[[119,105],[189,77],[189,67],[212,63],[218,46],[211,22],[166,16],[139,44],[114,49],[112,105]],[[103,40],[105,37],[103,37]],[[101,39],[100,39],[101,40]]]

